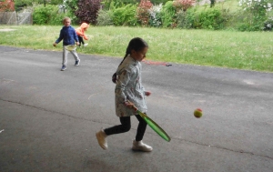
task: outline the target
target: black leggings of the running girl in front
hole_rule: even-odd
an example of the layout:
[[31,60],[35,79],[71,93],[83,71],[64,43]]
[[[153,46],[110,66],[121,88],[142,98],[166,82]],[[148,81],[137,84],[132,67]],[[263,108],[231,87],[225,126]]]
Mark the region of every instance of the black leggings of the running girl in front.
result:
[[[136,115],[136,118],[139,121],[139,124],[137,126],[137,131],[136,131],[136,141],[140,141],[140,140],[142,140],[144,133],[146,131],[147,123],[139,115]],[[131,129],[131,117],[130,116],[119,117],[119,120],[120,120],[121,125],[108,127],[105,129],[105,133],[107,136],[119,134],[119,133],[125,133]]]

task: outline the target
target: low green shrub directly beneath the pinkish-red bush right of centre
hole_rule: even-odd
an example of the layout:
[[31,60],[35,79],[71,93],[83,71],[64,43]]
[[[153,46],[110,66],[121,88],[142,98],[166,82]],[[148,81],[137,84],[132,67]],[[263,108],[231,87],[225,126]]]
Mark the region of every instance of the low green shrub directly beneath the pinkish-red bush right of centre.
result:
[[177,27],[178,28],[194,28],[196,19],[196,12],[194,8],[187,11],[180,10],[177,12]]

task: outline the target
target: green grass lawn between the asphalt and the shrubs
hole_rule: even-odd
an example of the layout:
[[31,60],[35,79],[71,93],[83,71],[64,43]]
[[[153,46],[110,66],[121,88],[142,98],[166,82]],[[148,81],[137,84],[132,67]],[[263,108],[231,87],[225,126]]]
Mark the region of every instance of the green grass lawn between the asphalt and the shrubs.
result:
[[[62,51],[62,43],[52,46],[61,27],[0,25],[15,29],[0,31],[0,45]],[[78,53],[123,57],[129,40],[139,36],[149,45],[148,60],[273,72],[272,32],[91,26],[86,35],[89,45]]]

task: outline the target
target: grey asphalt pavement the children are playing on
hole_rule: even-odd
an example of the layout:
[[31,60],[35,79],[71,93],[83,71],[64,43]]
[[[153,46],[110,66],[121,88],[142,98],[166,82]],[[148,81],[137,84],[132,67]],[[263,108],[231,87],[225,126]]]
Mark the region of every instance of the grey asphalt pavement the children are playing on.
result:
[[[121,55],[122,56],[122,55]],[[143,65],[148,115],[172,137],[147,128],[151,153],[132,151],[118,124],[111,75],[120,58],[0,46],[0,171],[273,171],[273,74],[206,66]],[[200,107],[204,116],[193,116]]]

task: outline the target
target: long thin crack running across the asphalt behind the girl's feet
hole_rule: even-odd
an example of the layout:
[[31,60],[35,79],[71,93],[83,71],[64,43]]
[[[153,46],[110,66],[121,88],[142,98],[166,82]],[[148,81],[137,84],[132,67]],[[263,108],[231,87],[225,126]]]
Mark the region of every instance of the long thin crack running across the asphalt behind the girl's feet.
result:
[[[84,117],[77,117],[77,116],[67,115],[67,114],[64,114],[64,113],[61,113],[61,112],[56,112],[56,111],[53,111],[53,110],[48,110],[48,109],[45,109],[45,108],[42,108],[42,107],[39,107],[39,106],[26,105],[26,104],[23,104],[23,103],[20,103],[20,102],[15,102],[15,101],[11,101],[11,100],[5,100],[5,99],[2,99],[2,98],[0,98],[0,100],[4,101],[4,102],[8,102],[8,103],[13,103],[13,104],[21,105],[21,106],[28,106],[28,107],[31,107],[31,108],[35,108],[35,109],[38,109],[38,110],[45,111],[45,112],[59,114],[59,115],[62,115],[62,116],[69,116],[69,117],[72,117],[72,118],[75,118],[75,119],[82,119],[82,120],[91,121],[91,122],[100,123],[100,124],[113,125],[113,124],[110,124],[110,123],[101,122],[99,120],[94,120],[94,119],[92,120],[92,119],[86,119]],[[131,129],[136,130],[136,128],[133,128],[133,127]],[[154,135],[152,133],[149,133],[149,134]],[[154,135],[154,136],[156,136],[156,135]],[[273,160],[273,157],[258,155],[258,154],[254,154],[252,152],[247,152],[247,151],[243,151],[243,150],[233,150],[233,149],[226,148],[226,147],[214,147],[214,146],[210,146],[210,145],[206,145],[206,144],[201,144],[201,143],[197,143],[197,142],[194,142],[194,141],[190,141],[190,140],[186,140],[186,139],[182,139],[182,138],[178,138],[178,137],[172,137],[172,139],[176,139],[176,140],[179,140],[179,141],[184,141],[184,142],[187,142],[187,143],[196,144],[196,145],[203,146],[203,147],[218,148],[218,149],[227,150],[227,151],[231,151],[231,152],[235,152],[235,153],[248,154],[250,156],[265,157],[265,158]]]

